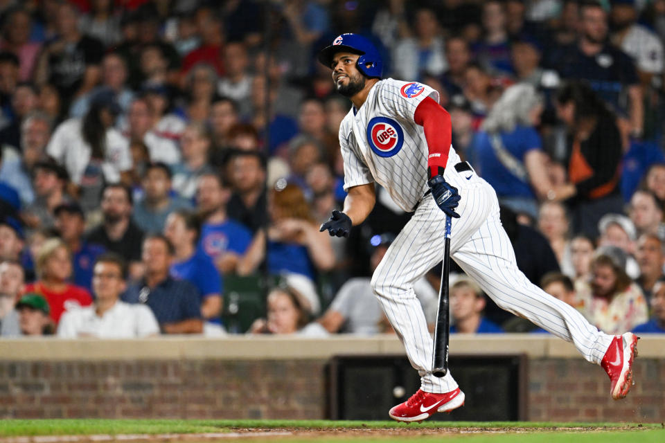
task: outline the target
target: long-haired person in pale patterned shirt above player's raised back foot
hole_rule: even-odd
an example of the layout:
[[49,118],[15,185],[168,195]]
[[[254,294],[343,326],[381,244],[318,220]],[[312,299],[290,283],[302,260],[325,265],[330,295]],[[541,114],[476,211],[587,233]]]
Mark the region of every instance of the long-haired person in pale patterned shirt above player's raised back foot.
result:
[[626,274],[626,253],[598,248],[591,264],[592,280],[578,291],[581,310],[590,323],[608,334],[622,334],[648,320],[641,289]]

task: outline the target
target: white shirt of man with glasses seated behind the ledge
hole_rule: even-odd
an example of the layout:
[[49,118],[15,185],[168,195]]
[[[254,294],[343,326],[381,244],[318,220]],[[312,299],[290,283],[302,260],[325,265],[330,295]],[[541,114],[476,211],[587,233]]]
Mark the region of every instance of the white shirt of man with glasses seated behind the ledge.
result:
[[120,300],[101,317],[94,305],[66,311],[57,327],[60,338],[141,338],[157,334],[159,325],[150,307]]

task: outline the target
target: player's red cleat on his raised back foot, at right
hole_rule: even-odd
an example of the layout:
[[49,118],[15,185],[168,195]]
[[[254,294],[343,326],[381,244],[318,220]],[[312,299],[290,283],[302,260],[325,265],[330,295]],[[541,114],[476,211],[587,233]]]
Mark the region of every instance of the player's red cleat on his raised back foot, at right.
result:
[[639,337],[632,332],[615,336],[608,347],[601,366],[610,376],[610,394],[615,400],[626,397],[632,384],[632,361],[637,357]]

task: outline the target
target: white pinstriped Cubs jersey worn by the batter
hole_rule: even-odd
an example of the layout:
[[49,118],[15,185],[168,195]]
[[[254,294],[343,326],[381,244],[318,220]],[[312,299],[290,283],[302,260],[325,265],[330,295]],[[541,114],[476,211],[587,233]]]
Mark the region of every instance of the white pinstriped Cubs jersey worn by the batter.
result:
[[[377,82],[360,109],[351,108],[339,125],[344,157],[344,190],[376,181],[411,212],[427,191],[427,141],[414,122],[416,107],[438,93],[425,84],[388,78]],[[459,163],[450,147],[447,165]],[[448,170],[444,177],[447,179]]]

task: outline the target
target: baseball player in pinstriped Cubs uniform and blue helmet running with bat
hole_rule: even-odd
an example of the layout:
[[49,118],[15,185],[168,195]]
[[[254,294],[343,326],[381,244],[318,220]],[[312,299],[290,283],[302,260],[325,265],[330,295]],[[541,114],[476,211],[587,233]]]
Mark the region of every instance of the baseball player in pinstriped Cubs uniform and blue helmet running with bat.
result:
[[420,389],[394,406],[390,417],[420,422],[464,404],[450,371],[432,375],[432,336],[413,284],[443,257],[445,217],[452,217],[450,256],[499,307],[528,318],[574,343],[610,376],[614,399],[626,396],[637,356],[637,336],[599,332],[573,307],[544,293],[517,269],[499,221],[493,188],[460,161],[451,146],[450,116],[425,84],[381,79],[382,61],[369,40],[339,35],[319,53],[332,81],[353,107],[339,126],[344,157],[344,210],[321,225],[338,237],[362,223],[374,203],[374,183],[405,211],[415,211],[388,249],[371,281],[392,327],[420,374]]

